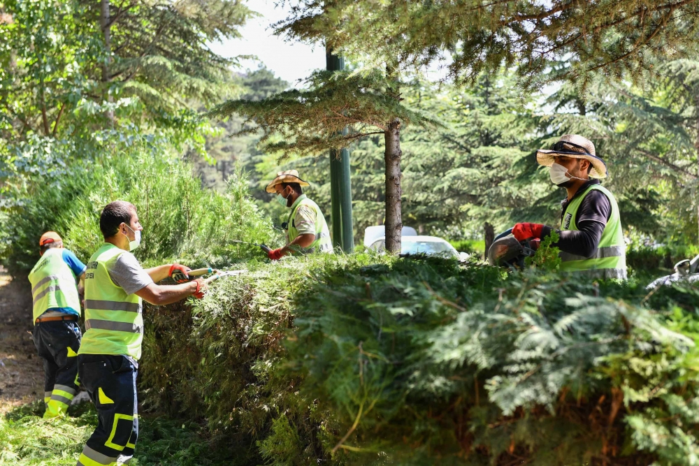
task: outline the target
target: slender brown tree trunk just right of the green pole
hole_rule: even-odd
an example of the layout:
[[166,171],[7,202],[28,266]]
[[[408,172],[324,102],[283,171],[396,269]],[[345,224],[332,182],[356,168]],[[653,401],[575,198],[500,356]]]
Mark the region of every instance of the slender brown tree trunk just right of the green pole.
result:
[[394,118],[384,133],[386,139],[386,250],[393,254],[401,252],[401,121]]

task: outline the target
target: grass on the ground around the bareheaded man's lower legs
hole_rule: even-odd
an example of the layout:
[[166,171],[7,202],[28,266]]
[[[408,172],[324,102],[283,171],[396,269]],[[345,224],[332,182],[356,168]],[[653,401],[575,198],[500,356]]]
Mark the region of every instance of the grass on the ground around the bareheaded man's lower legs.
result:
[[[75,466],[97,425],[94,405],[71,407],[69,416],[60,419],[43,419],[42,413],[43,403],[37,401],[0,418],[0,465]],[[139,430],[131,466],[250,464],[230,438],[212,436],[192,421],[145,414]]]

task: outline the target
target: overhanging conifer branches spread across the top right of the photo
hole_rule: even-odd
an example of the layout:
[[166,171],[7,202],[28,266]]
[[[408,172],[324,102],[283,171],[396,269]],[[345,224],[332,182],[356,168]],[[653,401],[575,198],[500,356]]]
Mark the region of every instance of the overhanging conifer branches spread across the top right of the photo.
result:
[[[324,43],[367,68],[442,66],[457,80],[517,67],[521,85],[549,78],[584,87],[591,76],[639,77],[654,54],[691,56],[693,2],[604,0],[296,0],[277,34]],[[564,59],[562,66],[556,62]]]

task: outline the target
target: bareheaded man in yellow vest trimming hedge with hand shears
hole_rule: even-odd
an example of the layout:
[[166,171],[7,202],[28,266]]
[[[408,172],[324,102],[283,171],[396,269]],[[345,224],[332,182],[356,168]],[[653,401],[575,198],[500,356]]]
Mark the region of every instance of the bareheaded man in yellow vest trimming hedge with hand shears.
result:
[[[206,284],[189,281],[184,265],[141,268],[131,252],[143,227],[136,207],[115,201],[99,219],[103,244],[85,273],[85,336],[78,351],[80,382],[97,408],[97,428],[82,449],[78,466],[126,464],[138,438],[136,374],[143,340],[143,303],[165,305],[195,296]],[[176,285],[157,282],[171,277]]]

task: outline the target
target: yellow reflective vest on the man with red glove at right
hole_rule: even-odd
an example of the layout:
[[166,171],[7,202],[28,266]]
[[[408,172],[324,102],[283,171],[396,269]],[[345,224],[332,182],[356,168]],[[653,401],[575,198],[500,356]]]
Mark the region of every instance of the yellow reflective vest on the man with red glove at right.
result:
[[593,254],[589,257],[576,256],[567,252],[561,252],[561,270],[565,272],[575,272],[576,275],[596,278],[617,278],[626,279],[626,245],[624,245],[624,232],[621,230],[621,216],[619,215],[619,205],[617,200],[606,188],[599,184],[593,184],[585,192],[576,196],[568,206],[565,207],[561,218],[561,230],[578,231],[575,224],[577,210],[582,200],[590,191],[602,191],[610,200],[612,213],[607,221],[602,238]]

